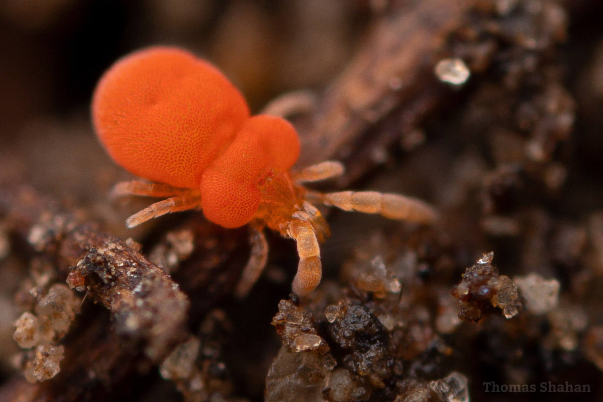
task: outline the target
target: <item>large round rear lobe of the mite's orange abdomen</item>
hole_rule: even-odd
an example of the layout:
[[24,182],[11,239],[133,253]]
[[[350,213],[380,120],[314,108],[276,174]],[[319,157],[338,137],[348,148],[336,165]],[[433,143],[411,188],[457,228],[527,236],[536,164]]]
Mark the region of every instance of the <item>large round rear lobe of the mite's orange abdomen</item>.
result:
[[181,49],[154,47],[122,58],[104,74],[92,119],[123,168],[197,189],[204,169],[249,119],[249,109],[211,64]]

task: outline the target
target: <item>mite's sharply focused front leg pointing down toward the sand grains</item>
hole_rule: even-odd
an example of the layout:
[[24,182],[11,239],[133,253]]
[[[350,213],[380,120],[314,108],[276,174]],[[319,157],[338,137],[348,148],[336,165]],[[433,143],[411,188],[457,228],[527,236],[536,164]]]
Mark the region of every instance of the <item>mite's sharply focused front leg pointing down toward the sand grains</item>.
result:
[[[297,214],[305,213],[298,212]],[[308,219],[311,219],[309,215]],[[291,221],[287,233],[297,242],[297,254],[300,257],[297,274],[293,280],[293,292],[296,295],[304,296],[314,291],[323,276],[318,240],[314,228],[307,220]]]

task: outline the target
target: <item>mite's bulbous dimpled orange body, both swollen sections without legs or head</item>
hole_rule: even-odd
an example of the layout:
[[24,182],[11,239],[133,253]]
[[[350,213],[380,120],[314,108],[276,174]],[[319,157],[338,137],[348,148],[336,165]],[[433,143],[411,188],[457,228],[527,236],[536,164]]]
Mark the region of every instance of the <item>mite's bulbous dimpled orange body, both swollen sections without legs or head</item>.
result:
[[92,119],[101,143],[133,174],[199,190],[207,219],[247,224],[260,184],[286,174],[300,152],[295,129],[254,116],[221,72],[176,48],[134,52],[96,87]]

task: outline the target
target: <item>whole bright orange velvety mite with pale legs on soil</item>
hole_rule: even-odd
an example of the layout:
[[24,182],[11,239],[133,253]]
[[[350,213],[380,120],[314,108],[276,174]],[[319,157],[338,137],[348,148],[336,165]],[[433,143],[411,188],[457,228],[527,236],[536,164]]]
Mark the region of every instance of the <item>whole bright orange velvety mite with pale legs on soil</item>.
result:
[[118,183],[116,195],[169,197],[130,216],[128,227],[199,208],[223,227],[250,225],[251,257],[235,289],[239,297],[267,261],[264,227],[297,242],[295,294],[318,286],[318,240],[329,228],[311,202],[412,222],[435,219],[427,204],[402,195],[323,194],[301,186],[341,175],[343,165],[327,161],[292,174],[300,153],[293,126],[280,117],[250,116],[241,93],[218,69],[182,49],[153,47],[117,61],[96,86],[92,121],[115,162],[156,182]]

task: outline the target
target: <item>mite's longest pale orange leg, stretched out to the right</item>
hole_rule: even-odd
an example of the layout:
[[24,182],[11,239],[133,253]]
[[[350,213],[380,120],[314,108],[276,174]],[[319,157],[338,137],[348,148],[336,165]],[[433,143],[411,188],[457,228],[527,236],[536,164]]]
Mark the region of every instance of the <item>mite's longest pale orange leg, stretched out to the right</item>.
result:
[[324,194],[323,203],[346,211],[379,213],[385,218],[428,224],[437,219],[437,212],[417,198],[376,191],[342,191]]

